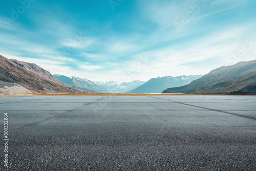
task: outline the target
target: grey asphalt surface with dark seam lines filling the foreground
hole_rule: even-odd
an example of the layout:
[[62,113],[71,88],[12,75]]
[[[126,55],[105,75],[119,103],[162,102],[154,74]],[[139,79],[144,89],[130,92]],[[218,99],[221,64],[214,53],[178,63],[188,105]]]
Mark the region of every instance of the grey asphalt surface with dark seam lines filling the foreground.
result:
[[256,170],[256,96],[0,97],[1,136],[4,112],[9,170]]

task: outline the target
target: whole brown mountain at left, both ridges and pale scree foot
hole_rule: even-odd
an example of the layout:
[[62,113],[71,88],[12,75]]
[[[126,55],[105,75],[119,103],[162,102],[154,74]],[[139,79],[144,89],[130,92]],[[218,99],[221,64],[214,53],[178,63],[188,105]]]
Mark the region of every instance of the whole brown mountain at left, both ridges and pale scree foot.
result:
[[[15,89],[17,90],[16,94],[19,94],[17,88],[20,86],[32,93],[90,93],[89,91],[74,89],[60,82],[48,71],[34,63],[9,60],[2,55],[0,55],[0,63],[2,89]],[[23,88],[20,88],[20,90]]]

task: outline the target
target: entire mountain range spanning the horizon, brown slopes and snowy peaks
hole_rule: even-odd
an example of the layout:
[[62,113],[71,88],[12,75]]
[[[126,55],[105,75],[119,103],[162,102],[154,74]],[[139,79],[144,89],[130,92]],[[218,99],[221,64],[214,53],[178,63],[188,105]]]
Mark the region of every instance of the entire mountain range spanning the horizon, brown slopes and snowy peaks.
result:
[[[256,94],[256,60],[223,66],[202,75],[165,76],[132,82],[90,81],[52,75],[34,63],[0,55],[0,95],[32,93]],[[163,91],[164,90],[164,91]]]

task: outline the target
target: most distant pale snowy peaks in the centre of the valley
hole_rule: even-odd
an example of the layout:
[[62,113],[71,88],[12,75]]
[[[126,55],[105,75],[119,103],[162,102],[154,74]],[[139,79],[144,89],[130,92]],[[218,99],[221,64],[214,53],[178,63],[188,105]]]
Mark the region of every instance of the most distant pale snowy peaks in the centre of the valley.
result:
[[145,81],[135,80],[132,82],[116,82],[116,81],[95,81],[95,83],[99,84],[100,86],[106,88],[111,93],[125,93],[131,90],[136,89],[137,87],[141,86]]

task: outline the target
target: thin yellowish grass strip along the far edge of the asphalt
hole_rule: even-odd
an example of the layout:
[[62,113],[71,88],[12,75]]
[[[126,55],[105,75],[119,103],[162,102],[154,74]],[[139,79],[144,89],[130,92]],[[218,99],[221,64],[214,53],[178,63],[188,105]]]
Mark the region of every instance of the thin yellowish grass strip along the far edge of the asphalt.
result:
[[16,96],[256,96],[256,95],[229,95],[229,94],[125,94],[125,93],[88,93],[88,94],[24,94],[24,95],[0,95],[0,97]]

